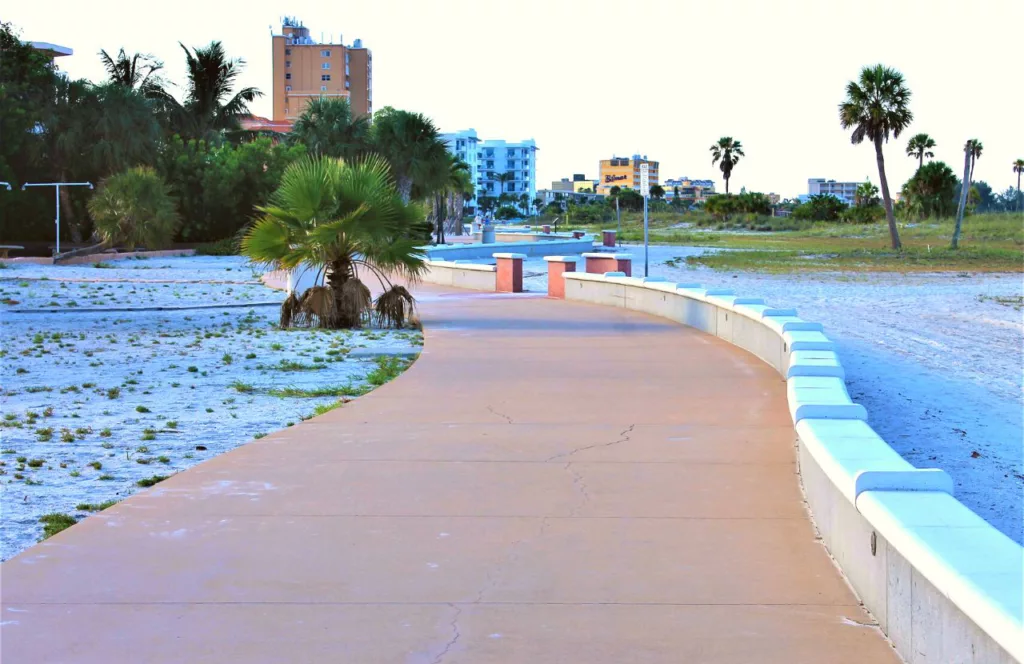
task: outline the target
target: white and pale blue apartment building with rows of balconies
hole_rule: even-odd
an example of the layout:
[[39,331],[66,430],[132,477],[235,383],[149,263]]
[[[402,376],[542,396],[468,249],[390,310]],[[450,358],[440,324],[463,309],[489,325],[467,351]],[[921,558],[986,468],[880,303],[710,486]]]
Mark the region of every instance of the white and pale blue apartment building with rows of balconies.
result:
[[[464,129],[443,133],[441,139],[450,153],[469,164],[474,190],[471,207],[476,207],[481,194],[495,198],[503,193],[525,194],[530,201],[537,197],[537,141],[532,138],[519,142],[481,140],[475,129]],[[509,179],[499,181],[501,173],[509,173]]]

